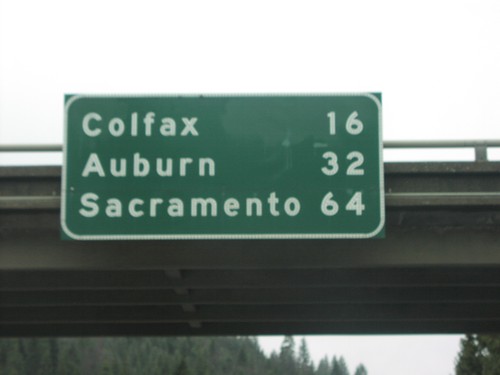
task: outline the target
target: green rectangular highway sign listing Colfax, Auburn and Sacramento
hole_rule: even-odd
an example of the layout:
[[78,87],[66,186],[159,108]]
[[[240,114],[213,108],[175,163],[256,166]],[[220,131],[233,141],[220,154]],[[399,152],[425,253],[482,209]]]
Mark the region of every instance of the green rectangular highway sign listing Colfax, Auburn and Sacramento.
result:
[[380,94],[65,98],[64,238],[383,235]]

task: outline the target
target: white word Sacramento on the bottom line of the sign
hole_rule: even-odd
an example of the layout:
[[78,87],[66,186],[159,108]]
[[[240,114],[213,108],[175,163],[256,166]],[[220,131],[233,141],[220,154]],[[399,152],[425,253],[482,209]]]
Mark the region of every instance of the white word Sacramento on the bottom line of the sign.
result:
[[101,197],[93,192],[85,193],[80,198],[78,213],[85,218],[106,216],[121,218],[124,216],[141,218],[168,216],[182,217],[217,217],[217,216],[297,216],[301,205],[296,197],[281,199],[276,192],[271,192],[267,198],[227,198],[217,201],[213,197],[182,198],[109,198]]

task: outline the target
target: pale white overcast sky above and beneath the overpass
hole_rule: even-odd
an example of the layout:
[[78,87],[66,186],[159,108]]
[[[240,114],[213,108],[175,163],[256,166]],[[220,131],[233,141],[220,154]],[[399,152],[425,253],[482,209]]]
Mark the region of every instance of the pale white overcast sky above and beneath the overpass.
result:
[[[500,1],[0,0],[0,144],[61,144],[64,93],[353,91],[383,93],[385,140],[500,139]],[[421,340],[308,343],[452,373],[458,336]]]

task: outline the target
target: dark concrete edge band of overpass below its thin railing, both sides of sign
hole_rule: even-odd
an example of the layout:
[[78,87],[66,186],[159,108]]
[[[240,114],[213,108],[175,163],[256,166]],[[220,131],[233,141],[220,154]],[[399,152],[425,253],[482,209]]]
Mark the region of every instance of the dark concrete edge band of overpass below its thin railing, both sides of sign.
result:
[[[387,209],[500,207],[499,162],[385,163],[384,173]],[[0,211],[59,210],[60,178],[60,166],[0,168]]]

